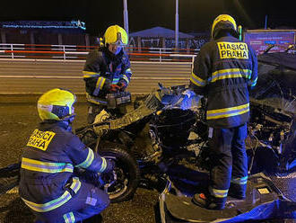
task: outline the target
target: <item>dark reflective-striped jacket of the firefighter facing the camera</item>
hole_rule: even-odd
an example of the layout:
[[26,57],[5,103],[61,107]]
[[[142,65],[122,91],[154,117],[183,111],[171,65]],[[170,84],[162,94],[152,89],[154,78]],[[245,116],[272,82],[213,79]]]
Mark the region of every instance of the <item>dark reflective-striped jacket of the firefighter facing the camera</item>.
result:
[[91,50],[83,68],[88,101],[106,104],[110,85],[123,83],[127,86],[131,76],[130,61],[123,49],[116,56],[106,47]]

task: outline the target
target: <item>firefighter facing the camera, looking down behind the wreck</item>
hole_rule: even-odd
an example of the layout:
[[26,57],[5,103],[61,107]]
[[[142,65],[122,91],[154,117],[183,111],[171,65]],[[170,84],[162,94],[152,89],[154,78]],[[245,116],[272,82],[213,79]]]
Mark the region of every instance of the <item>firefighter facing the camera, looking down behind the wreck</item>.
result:
[[124,50],[128,37],[118,25],[105,31],[103,46],[91,50],[83,68],[86,98],[89,102],[88,122],[106,108],[106,94],[124,91],[130,82],[132,71]]

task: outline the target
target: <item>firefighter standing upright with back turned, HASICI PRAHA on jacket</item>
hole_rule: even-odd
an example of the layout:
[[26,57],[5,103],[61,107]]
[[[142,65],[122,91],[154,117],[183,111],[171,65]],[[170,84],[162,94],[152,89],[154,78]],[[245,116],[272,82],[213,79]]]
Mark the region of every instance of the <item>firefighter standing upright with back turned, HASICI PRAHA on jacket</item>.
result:
[[221,210],[228,194],[237,199],[246,196],[248,90],[257,83],[257,57],[238,39],[236,22],[228,14],[213,21],[212,37],[200,49],[190,77],[190,88],[207,98],[206,120],[213,153],[208,190],[194,195],[193,202]]

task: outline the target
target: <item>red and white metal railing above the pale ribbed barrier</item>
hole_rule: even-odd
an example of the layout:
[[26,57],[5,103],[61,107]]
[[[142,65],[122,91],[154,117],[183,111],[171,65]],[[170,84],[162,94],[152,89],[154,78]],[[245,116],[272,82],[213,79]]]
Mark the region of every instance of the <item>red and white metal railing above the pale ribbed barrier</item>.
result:
[[[0,43],[0,58],[47,58],[62,60],[85,59],[95,46],[35,45]],[[131,60],[158,62],[192,62],[196,49],[126,48]]]

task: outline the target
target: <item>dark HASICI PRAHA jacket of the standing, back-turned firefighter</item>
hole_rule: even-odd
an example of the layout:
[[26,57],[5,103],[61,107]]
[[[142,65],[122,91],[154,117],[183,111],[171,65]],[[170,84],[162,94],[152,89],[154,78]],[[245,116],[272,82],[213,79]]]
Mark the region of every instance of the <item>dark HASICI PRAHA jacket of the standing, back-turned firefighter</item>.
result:
[[206,43],[190,77],[190,88],[207,98],[206,120],[213,128],[232,128],[248,121],[248,88],[256,83],[255,52],[232,36]]

